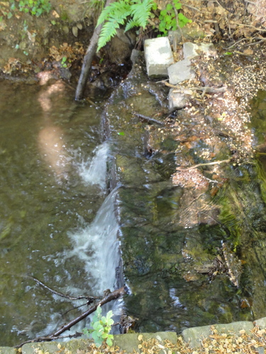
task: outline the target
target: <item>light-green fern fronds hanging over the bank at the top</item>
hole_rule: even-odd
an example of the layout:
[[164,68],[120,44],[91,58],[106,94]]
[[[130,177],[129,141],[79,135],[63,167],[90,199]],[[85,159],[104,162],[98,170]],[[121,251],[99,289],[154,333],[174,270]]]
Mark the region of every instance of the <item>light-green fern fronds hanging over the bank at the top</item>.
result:
[[105,7],[97,22],[99,25],[106,21],[101,29],[97,51],[116,35],[120,25],[126,23],[125,32],[133,27],[145,29],[153,4],[153,0],[118,0]]

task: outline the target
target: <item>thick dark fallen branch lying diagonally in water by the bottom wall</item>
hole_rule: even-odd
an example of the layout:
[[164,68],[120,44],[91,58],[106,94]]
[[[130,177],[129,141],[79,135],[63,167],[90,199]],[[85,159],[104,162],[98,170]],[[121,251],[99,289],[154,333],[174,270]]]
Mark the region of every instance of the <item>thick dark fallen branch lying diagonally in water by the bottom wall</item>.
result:
[[[104,304],[107,304],[107,302],[112,301],[113,299],[117,299],[124,293],[124,287],[121,287],[118,290],[114,290],[113,292],[110,292],[108,295],[106,295],[101,301],[99,301],[97,304],[94,304],[93,306],[89,307],[87,311],[83,312],[81,315],[77,316],[75,319],[72,319],[68,324],[65,324],[62,326],[60,329],[58,329],[55,333],[50,334],[50,336],[46,337],[37,337],[34,339],[31,339],[30,341],[26,341],[24,343],[19,344],[16,346],[16,348],[21,348],[26,343],[35,343],[35,342],[42,342],[42,341],[54,341],[55,339],[59,338],[60,334],[64,333],[68,329],[71,329],[74,324],[77,324],[79,321],[82,321],[82,319],[85,319],[89,314],[92,314],[92,312],[96,311],[98,306],[102,306]],[[74,335],[76,336],[76,335]]]

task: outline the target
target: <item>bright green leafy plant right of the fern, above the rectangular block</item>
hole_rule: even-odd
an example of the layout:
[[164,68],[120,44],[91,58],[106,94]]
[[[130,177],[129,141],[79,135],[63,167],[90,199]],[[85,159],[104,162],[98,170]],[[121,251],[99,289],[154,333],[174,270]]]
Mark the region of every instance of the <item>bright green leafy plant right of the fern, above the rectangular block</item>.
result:
[[180,4],[179,0],[172,0],[172,4],[167,4],[165,9],[160,11],[159,30],[162,32],[162,35],[167,35],[168,30],[177,30],[177,27],[182,28],[187,23],[192,22],[183,13],[177,12],[181,8],[182,4]]

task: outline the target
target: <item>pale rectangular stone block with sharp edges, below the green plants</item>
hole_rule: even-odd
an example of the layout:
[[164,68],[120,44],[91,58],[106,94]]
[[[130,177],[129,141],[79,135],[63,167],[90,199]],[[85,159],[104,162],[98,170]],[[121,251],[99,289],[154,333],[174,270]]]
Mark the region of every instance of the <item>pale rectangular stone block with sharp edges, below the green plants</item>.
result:
[[148,76],[167,76],[167,68],[174,62],[170,42],[167,37],[145,40],[144,55]]

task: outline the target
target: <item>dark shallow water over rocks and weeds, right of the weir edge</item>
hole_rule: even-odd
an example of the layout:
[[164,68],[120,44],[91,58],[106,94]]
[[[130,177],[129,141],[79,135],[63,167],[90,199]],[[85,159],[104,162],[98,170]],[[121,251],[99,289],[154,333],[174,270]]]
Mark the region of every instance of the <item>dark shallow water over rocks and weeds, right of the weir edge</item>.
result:
[[[174,186],[177,155],[172,152],[180,150],[178,159],[185,161],[189,154],[199,156],[204,146],[182,152],[171,134],[159,129],[156,136],[152,126],[132,114],[131,109],[156,117],[162,110],[149,85],[135,66],[105,113],[123,185],[117,205],[128,285],[124,300],[126,312],[136,319],[134,329],[179,332],[265,316],[265,178],[260,161],[225,164],[219,185]],[[153,152],[147,154],[149,144]],[[221,151],[218,159],[228,159],[226,154]]]

